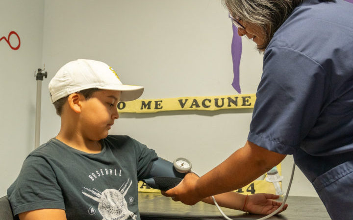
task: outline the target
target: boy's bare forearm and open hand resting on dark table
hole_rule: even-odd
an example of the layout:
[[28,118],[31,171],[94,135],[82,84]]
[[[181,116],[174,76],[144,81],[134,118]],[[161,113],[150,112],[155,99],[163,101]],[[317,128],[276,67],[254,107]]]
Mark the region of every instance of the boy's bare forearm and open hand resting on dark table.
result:
[[[242,210],[252,214],[268,215],[276,211],[282,202],[277,202],[273,199],[279,198],[274,194],[258,193],[252,194],[248,197],[236,192],[227,192],[214,196],[218,205],[230,209]],[[211,197],[203,198],[203,202],[214,204]],[[285,204],[280,212],[286,210],[288,207]],[[279,212],[278,212],[279,213]]]

